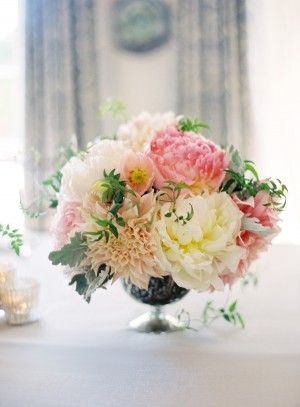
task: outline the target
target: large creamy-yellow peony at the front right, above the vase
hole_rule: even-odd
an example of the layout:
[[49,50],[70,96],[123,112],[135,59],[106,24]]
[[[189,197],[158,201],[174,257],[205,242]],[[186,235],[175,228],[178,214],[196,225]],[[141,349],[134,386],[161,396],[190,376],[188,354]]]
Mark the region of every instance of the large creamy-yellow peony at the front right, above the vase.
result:
[[243,214],[226,193],[178,198],[177,216],[185,217],[191,206],[194,215],[186,224],[176,222],[174,214],[165,216],[170,211],[169,203],[161,207],[156,228],[169,264],[167,271],[182,287],[220,290],[220,274],[235,271],[244,253],[236,245]]

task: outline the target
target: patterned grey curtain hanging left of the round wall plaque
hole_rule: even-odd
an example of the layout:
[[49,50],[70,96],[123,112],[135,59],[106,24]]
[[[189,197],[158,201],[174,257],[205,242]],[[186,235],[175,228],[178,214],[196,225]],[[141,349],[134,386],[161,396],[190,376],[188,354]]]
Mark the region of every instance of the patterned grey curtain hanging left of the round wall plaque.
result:
[[38,195],[61,145],[76,135],[83,147],[99,134],[97,3],[25,2],[27,201]]

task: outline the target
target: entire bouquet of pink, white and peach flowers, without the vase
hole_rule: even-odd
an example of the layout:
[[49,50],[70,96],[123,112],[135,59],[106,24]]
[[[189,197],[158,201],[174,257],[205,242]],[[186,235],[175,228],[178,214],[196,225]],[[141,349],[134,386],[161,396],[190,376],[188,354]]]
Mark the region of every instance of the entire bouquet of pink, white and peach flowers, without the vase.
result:
[[70,159],[61,173],[54,265],[90,301],[123,279],[147,290],[223,290],[278,234],[286,187],[201,135],[205,123],[142,113]]

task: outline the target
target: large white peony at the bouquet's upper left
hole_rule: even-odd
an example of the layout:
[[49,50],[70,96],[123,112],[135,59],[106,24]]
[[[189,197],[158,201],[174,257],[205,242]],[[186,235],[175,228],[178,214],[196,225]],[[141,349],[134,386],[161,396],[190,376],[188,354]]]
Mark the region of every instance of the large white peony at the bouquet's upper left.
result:
[[95,143],[84,159],[72,157],[62,169],[60,199],[82,203],[85,195],[103,171],[121,170],[121,161],[127,149],[121,141],[101,140]]

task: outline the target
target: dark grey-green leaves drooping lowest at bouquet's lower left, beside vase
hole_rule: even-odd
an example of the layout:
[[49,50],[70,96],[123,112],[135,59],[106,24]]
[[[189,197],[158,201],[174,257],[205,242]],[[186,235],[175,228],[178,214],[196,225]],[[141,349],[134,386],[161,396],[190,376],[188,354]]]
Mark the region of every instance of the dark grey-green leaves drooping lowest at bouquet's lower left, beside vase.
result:
[[93,270],[88,269],[85,273],[76,274],[73,276],[69,285],[75,284],[75,290],[79,295],[89,303],[92,294],[98,288],[105,288],[105,284],[112,278],[110,268],[105,264],[101,264],[97,274]]

